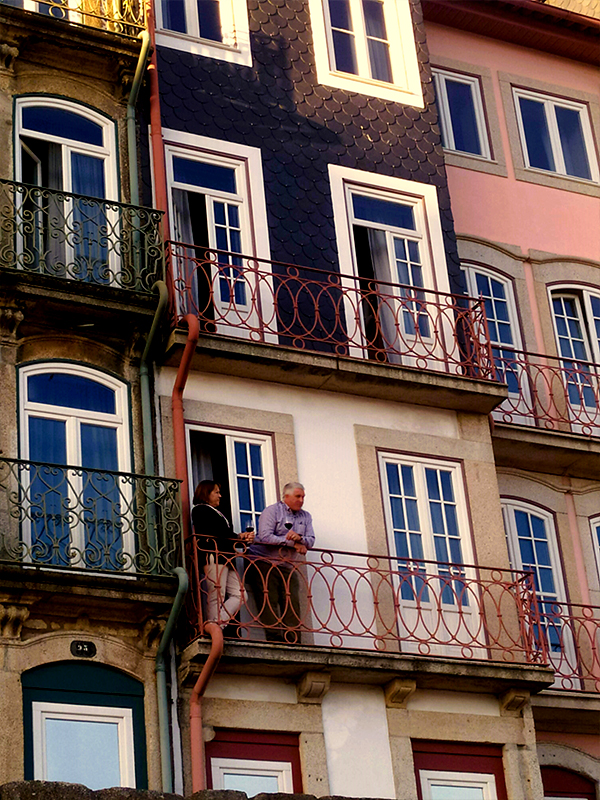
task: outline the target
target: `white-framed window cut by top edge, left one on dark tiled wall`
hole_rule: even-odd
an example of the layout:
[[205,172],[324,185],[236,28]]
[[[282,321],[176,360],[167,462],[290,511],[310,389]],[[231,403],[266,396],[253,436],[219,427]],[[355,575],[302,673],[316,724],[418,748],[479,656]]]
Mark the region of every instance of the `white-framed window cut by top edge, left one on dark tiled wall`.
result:
[[245,0],[162,0],[157,44],[252,66]]

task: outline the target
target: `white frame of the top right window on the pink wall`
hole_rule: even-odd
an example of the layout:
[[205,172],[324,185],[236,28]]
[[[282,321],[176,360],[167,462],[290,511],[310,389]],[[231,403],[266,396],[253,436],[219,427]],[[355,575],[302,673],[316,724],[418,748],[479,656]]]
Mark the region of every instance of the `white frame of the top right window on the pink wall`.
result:
[[[592,127],[590,123],[590,114],[588,106],[585,103],[578,103],[575,100],[566,100],[562,97],[561,98],[552,97],[551,95],[545,95],[540,92],[532,91],[529,89],[521,89],[515,86],[513,86],[512,91],[513,91],[513,99],[515,105],[515,114],[517,118],[517,127],[519,130],[519,136],[521,138],[523,161],[525,163],[526,169],[533,170],[534,172],[540,172],[545,175],[548,174],[561,175],[566,178],[573,178],[575,180],[587,181],[588,183],[600,182],[598,159],[596,158],[596,150],[594,147],[594,137],[592,135]],[[529,163],[529,153],[527,151],[525,128],[523,126],[523,118],[521,116],[521,105],[519,103],[519,98],[521,97],[528,100],[535,100],[538,103],[542,103],[544,106],[546,123],[548,125],[548,134],[550,136],[550,145],[552,148],[552,155],[554,157],[554,170],[546,170],[546,169],[540,169],[539,167],[532,167]],[[560,134],[558,130],[558,124],[556,121],[555,109],[557,107],[568,108],[573,111],[579,112],[579,119],[581,120],[581,131],[590,167],[591,178],[582,178],[579,175],[570,175],[566,171]]]

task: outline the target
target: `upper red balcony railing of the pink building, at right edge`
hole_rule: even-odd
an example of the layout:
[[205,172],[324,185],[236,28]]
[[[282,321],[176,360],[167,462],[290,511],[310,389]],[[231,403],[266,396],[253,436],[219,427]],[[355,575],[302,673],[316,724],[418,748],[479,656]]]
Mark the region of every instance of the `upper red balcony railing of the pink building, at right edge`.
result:
[[508,399],[493,412],[498,422],[600,436],[600,367],[587,361],[497,350],[498,378]]

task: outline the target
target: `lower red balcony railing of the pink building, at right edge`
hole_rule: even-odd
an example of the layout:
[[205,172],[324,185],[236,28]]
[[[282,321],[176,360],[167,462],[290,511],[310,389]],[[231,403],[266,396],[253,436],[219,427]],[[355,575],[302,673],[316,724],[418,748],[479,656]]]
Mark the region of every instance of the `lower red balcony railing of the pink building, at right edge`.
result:
[[600,692],[600,607],[538,602],[555,689]]

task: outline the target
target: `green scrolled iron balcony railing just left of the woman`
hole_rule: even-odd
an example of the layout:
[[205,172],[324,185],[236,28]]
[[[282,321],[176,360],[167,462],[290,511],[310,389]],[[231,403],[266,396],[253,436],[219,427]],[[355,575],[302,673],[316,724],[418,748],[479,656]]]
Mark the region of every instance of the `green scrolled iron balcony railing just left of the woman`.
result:
[[0,458],[0,563],[168,575],[181,535],[179,481]]

